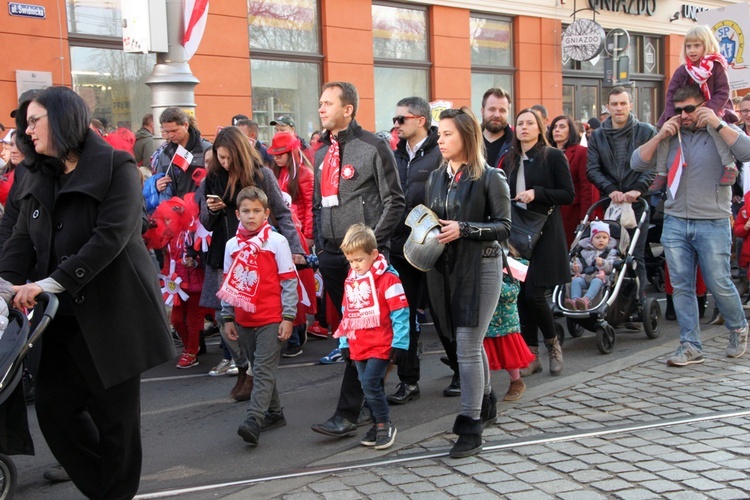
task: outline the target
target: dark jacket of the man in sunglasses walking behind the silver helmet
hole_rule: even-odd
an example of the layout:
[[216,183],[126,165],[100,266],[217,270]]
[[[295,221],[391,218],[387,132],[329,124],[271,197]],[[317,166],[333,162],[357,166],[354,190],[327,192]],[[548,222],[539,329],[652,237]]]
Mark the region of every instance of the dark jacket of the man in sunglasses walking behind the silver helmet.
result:
[[431,127],[427,138],[420,146],[413,160],[409,159],[406,151],[406,139],[399,141],[396,151],[396,166],[404,191],[406,209],[401,222],[393,232],[391,238],[391,253],[404,254],[404,243],[411,234],[411,228],[406,225],[406,217],[411,209],[424,203],[425,185],[433,170],[440,166],[443,155],[437,147],[437,127]]

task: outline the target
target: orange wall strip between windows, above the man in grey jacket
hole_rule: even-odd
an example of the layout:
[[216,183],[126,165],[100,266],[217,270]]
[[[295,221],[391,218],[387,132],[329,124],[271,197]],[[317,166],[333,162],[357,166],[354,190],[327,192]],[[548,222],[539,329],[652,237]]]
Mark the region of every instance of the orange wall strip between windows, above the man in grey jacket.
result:
[[321,0],[323,82],[347,81],[357,87],[357,122],[375,129],[375,69],[370,1]]

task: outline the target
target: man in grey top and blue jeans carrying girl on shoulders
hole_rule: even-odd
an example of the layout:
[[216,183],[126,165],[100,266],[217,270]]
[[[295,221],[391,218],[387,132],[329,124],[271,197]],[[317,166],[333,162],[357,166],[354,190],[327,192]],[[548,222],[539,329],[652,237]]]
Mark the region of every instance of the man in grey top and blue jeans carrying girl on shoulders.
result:
[[631,158],[633,170],[652,169],[657,146],[669,141],[670,172],[661,241],[680,324],[680,346],[667,360],[670,366],[703,362],[695,300],[698,265],[729,329],[727,357],[739,358],[747,348],[747,320],[729,267],[732,191],[730,186],[719,185],[723,167],[707,127],[719,132],[740,161],[750,161],[750,137],[717,117],[704,101],[697,86],[678,89],[674,94],[677,115]]

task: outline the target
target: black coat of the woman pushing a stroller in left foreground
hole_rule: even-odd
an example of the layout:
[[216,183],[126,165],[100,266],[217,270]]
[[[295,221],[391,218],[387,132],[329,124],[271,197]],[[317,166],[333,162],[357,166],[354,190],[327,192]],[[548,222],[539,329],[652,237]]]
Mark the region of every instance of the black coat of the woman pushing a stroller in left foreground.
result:
[[[129,153],[89,131],[55,195],[57,178],[28,172],[0,276],[23,284],[32,269],[65,288],[99,379],[113,387],[174,356],[164,302],[141,238],[141,185]],[[136,314],[137,313],[137,314]]]

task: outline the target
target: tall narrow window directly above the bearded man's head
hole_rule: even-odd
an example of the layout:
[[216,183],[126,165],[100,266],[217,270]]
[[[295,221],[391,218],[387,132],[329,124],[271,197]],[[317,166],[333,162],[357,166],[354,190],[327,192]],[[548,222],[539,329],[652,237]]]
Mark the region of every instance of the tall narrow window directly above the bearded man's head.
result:
[[505,18],[472,15],[469,23],[471,107],[479,113],[487,89],[502,87],[513,95],[513,33]]

